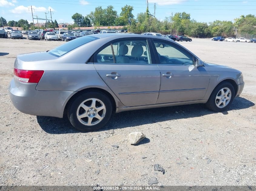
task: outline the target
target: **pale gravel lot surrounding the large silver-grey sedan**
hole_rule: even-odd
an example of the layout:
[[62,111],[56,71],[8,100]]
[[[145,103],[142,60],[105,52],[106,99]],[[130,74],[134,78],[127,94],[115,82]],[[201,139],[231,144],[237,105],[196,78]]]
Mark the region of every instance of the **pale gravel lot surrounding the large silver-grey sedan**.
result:
[[[256,185],[255,43],[179,42],[204,61],[243,72],[244,91],[227,112],[201,104],[129,111],[88,133],[66,118],[23,114],[9,99],[15,57],[62,43],[0,39],[0,186],[148,185],[151,177],[158,186]],[[134,131],[147,137],[136,146],[125,140]]]

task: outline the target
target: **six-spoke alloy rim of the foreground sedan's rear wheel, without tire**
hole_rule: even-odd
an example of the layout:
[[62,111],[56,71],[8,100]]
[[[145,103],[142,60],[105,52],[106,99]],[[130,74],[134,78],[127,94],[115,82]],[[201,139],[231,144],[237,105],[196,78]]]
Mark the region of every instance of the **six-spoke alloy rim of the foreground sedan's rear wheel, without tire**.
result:
[[105,104],[97,98],[84,100],[77,108],[76,116],[80,123],[93,126],[102,121],[106,114]]

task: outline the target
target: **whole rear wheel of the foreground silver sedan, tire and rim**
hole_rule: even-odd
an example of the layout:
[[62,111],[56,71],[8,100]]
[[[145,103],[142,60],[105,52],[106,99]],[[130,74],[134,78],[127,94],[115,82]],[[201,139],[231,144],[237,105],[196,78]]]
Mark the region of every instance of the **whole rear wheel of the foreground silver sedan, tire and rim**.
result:
[[100,129],[111,115],[111,100],[100,91],[82,93],[68,106],[68,119],[80,131]]

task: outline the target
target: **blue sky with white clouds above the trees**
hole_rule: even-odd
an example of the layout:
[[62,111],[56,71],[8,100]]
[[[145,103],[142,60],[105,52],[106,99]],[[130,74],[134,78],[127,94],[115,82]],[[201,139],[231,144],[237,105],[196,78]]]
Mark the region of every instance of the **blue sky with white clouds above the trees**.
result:
[[[120,14],[121,7],[131,5],[134,7],[133,15],[137,16],[140,12],[145,12],[147,0],[0,0],[0,17],[7,21],[18,21],[26,19],[32,22],[32,13],[38,18],[51,18],[58,23],[74,23],[71,16],[76,12],[85,16],[95,7],[108,5],[114,6],[114,9]],[[212,22],[215,20],[232,21],[240,15],[256,14],[256,0],[148,0],[149,11],[154,14],[154,4],[156,5],[155,17],[162,21],[165,17],[171,16],[176,12],[191,14],[191,19],[199,22]],[[36,17],[36,16],[34,16]],[[37,22],[36,20],[34,21]],[[44,22],[38,20],[38,22]]]

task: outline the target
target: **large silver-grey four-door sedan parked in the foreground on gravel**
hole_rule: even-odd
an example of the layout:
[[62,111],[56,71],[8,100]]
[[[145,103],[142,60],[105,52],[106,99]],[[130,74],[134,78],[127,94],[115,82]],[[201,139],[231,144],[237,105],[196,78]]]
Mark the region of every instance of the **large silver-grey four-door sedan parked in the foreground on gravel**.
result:
[[67,115],[76,129],[93,131],[128,110],[205,103],[221,112],[243,88],[240,71],[203,62],[172,40],[106,33],[18,55],[9,94],[23,113]]

